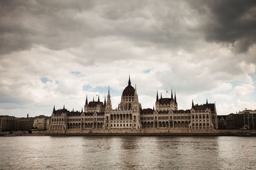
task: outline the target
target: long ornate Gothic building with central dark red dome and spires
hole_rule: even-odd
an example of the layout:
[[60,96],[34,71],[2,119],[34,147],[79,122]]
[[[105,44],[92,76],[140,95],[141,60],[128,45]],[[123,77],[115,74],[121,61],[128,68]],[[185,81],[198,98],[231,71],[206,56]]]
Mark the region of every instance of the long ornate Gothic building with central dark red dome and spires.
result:
[[111,105],[111,94],[108,89],[107,101],[102,103],[90,101],[86,96],[84,111],[68,111],[63,109],[52,111],[49,131],[60,132],[68,129],[218,129],[217,113],[214,103],[194,104],[190,110],[178,110],[176,94],[170,98],[156,94],[156,109],[142,109],[138,101],[136,86],[131,85],[129,78],[118,108]]

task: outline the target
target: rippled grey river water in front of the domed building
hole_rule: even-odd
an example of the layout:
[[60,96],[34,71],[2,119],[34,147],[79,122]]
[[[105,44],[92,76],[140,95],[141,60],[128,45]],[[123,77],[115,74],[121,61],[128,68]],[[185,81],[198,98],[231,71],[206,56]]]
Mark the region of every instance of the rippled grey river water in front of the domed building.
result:
[[0,137],[0,169],[256,169],[254,137]]

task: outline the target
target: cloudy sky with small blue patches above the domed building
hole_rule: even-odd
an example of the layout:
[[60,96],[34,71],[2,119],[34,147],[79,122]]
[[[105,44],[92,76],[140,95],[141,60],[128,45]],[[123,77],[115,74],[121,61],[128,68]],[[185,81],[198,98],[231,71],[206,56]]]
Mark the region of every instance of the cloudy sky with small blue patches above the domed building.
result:
[[0,1],[0,115],[120,103],[129,74],[142,108],[156,91],[256,109],[256,1]]

